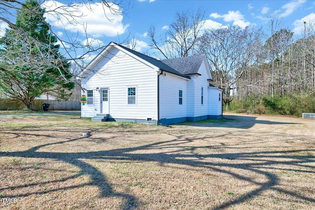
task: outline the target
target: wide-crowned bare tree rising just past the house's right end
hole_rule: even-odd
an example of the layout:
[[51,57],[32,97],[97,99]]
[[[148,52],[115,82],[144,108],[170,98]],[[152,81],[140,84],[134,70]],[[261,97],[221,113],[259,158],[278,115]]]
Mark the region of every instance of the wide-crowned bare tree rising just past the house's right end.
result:
[[[261,30],[239,27],[208,30],[198,47],[207,55],[215,85],[224,90],[226,110],[232,101],[231,90],[241,85],[243,75],[256,62],[261,48]],[[257,81],[258,82],[258,81]],[[253,83],[242,85],[253,85]]]

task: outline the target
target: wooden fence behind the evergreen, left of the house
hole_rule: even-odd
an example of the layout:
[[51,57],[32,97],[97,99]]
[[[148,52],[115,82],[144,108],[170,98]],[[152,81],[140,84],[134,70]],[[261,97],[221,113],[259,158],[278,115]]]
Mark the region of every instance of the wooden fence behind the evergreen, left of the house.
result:
[[[78,111],[81,110],[81,102],[79,101],[56,101],[56,100],[41,100],[35,99],[33,101],[34,110],[43,110],[43,104],[49,104],[48,110],[64,110],[64,111]],[[0,110],[22,110],[26,106],[14,99],[0,99]]]

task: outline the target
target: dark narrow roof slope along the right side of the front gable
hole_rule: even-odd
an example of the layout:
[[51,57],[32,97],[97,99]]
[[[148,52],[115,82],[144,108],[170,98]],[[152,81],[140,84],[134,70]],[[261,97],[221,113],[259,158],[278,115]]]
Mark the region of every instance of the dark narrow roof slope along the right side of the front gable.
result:
[[[114,42],[112,42],[112,43],[114,43]],[[116,43],[114,43],[114,44],[116,44]],[[131,50],[131,49],[129,49],[129,48],[123,46],[123,45],[120,45],[120,44],[117,44],[117,45],[122,47],[123,49],[127,50],[128,52],[134,54],[135,56],[138,56],[139,58],[141,58],[141,59],[143,59],[143,60],[153,64],[154,66],[160,68],[163,71],[166,71],[166,72],[178,75],[178,76],[182,76],[182,77],[185,77],[185,78],[190,78],[189,76],[184,75],[183,73],[179,72],[178,70],[175,70],[174,68],[170,67],[169,65],[165,64],[162,61],[159,61],[159,60],[157,60],[155,58],[152,58],[150,56],[144,55],[144,54],[139,53],[137,51]]]

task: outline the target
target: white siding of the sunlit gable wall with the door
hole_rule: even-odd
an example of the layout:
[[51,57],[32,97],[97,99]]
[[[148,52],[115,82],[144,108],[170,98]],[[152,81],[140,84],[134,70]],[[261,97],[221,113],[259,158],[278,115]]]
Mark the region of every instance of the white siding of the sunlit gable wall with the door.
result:
[[[157,120],[157,70],[114,48],[97,63],[82,84],[86,89],[109,88],[109,118]],[[128,105],[127,87],[136,87],[136,105]],[[94,106],[82,106],[82,117],[100,113],[99,92],[94,92]]]

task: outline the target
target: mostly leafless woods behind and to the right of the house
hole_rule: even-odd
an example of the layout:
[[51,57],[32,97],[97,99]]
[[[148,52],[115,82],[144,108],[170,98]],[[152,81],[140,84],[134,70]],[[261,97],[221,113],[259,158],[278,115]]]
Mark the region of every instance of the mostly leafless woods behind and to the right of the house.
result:
[[268,33],[237,26],[202,30],[202,20],[200,10],[177,13],[165,34],[150,28],[151,47],[164,58],[206,54],[225,110],[315,112],[314,23],[304,22],[302,35],[294,36],[277,16],[268,19]]

